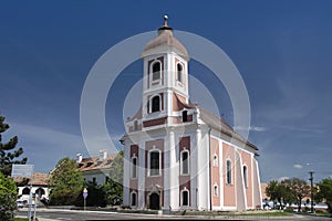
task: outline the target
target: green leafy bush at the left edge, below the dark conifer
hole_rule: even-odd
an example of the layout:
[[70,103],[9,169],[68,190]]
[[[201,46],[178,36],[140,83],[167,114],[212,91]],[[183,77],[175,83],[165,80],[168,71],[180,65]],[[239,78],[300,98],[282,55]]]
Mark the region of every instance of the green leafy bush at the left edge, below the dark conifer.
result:
[[12,220],[17,209],[17,186],[0,172],[0,221]]

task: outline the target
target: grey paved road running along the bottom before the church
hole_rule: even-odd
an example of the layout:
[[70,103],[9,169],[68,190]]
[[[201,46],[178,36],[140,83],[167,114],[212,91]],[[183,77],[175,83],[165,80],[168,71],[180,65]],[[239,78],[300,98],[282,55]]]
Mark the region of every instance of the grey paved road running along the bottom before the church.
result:
[[[19,217],[27,217],[27,210],[20,210]],[[60,221],[60,220],[332,220],[331,218],[322,218],[314,215],[292,214],[281,217],[255,217],[255,215],[158,215],[142,213],[118,213],[103,211],[82,211],[82,210],[59,210],[59,209],[38,209],[37,217],[39,221]]]

